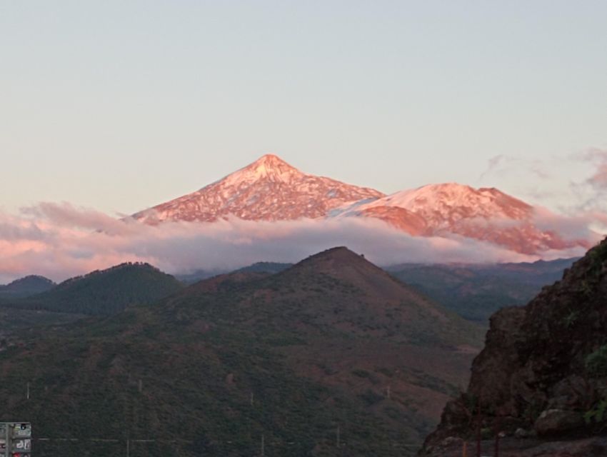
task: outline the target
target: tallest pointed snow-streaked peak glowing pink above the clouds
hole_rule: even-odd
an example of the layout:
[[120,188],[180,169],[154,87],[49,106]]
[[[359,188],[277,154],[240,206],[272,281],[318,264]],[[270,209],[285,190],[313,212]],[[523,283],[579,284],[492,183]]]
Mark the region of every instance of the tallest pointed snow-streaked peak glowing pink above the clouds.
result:
[[147,224],[214,222],[228,216],[251,221],[317,219],[344,204],[385,194],[334,179],[305,174],[278,156],[253,164],[179,199],[134,214]]

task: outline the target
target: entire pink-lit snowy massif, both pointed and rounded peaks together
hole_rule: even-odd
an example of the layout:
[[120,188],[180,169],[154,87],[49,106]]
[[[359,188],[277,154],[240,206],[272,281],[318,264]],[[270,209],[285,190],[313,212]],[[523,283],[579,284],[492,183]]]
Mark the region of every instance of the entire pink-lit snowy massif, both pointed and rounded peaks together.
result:
[[590,246],[584,239],[566,240],[557,229],[539,228],[540,212],[544,218],[558,219],[493,188],[432,184],[386,196],[374,189],[305,174],[268,154],[193,194],[133,217],[151,225],[229,217],[249,221],[372,218],[411,236],[463,236],[532,255]]

